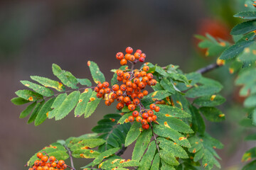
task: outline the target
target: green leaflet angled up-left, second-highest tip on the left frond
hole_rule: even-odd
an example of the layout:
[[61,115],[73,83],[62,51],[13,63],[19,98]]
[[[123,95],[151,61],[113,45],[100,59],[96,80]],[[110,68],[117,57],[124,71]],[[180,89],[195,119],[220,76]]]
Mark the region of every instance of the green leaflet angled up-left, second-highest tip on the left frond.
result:
[[53,74],[66,86],[72,89],[78,89],[78,86],[76,86],[78,84],[78,80],[73,76],[73,74],[61,69],[57,64],[53,64]]

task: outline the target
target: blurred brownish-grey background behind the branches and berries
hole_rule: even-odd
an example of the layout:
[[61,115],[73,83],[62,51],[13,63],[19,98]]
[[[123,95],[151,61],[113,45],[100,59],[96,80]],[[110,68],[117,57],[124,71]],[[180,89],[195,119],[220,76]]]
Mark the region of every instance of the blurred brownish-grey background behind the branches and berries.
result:
[[[14,106],[14,92],[23,89],[19,80],[30,75],[55,79],[51,64],[56,63],[78,78],[90,78],[87,60],[97,62],[106,78],[110,69],[119,68],[116,52],[131,46],[146,52],[146,61],[177,64],[193,72],[215,58],[204,57],[194,34],[210,33],[232,42],[230,29],[240,21],[233,18],[245,10],[243,0],[194,1],[0,1],[0,167],[26,169],[28,159],[39,149],[59,139],[90,132],[97,120],[112,113],[114,106],[100,106],[88,119],[73,114],[55,122],[46,120],[35,127],[19,119],[26,106]],[[206,121],[207,131],[225,144],[219,150],[222,169],[241,169],[243,152],[252,145],[243,142],[250,128],[240,120],[243,98],[233,86],[235,76],[223,67],[207,77],[222,81],[228,101],[220,107],[226,114],[223,123]],[[91,79],[91,78],[90,78]],[[124,157],[129,159],[127,149]],[[87,164],[75,160],[77,168]]]

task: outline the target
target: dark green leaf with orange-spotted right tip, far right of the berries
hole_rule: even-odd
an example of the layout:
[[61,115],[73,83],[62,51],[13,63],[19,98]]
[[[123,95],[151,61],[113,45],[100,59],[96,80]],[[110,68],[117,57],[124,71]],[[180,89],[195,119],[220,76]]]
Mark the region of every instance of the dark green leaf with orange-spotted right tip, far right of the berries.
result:
[[211,122],[220,122],[225,120],[225,114],[218,110],[218,108],[202,107],[199,108],[199,111]]

